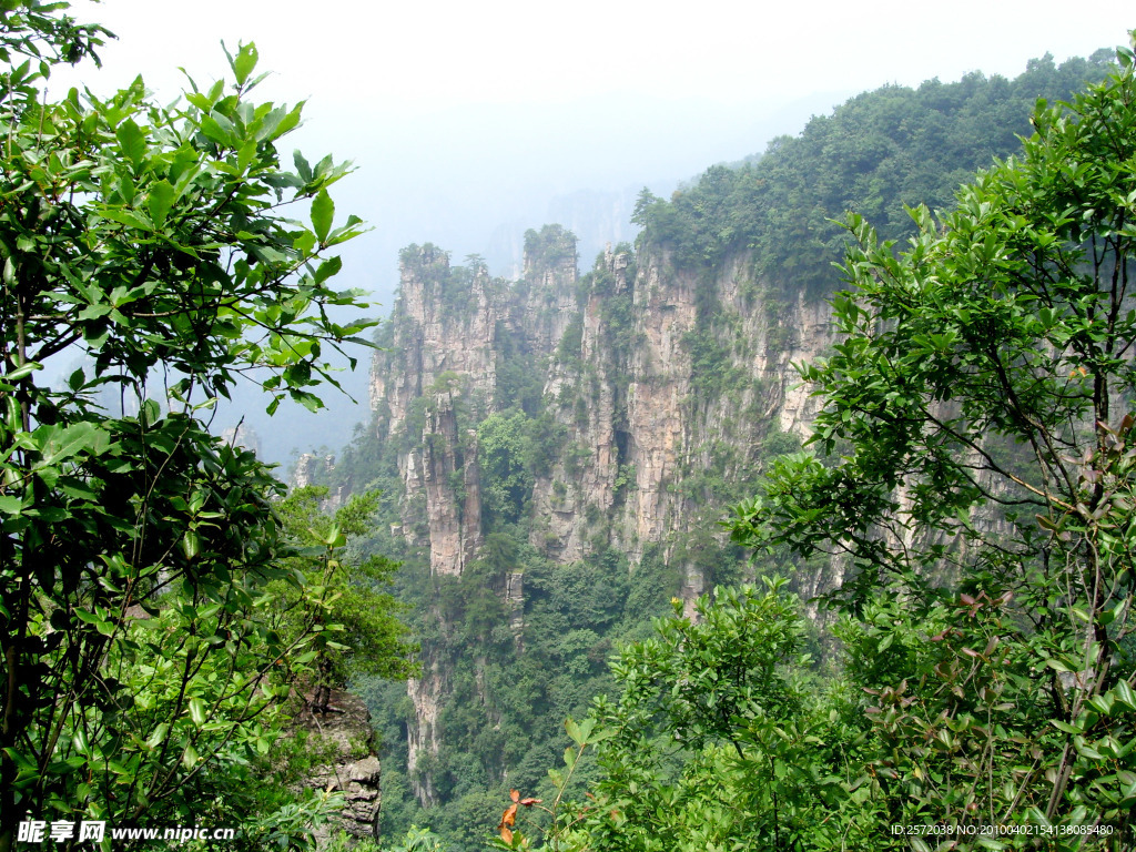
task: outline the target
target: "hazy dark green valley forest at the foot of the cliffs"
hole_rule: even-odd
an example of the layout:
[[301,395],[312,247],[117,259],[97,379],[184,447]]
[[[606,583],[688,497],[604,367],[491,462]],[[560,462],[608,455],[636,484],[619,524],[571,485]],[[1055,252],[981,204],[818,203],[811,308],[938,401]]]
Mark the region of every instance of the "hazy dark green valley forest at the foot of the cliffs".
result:
[[[524,577],[523,613],[502,602],[507,570]],[[641,637],[651,617],[667,610],[678,576],[657,558],[632,573],[613,551],[557,566],[517,525],[487,533],[482,558],[460,578],[429,578],[428,571],[409,556],[396,584],[401,600],[412,603],[408,618],[424,666],[446,667],[438,717],[444,740],[427,765],[437,800],[423,808],[404,774],[407,728],[415,724],[406,691],[365,686],[385,746],[383,832],[395,836],[428,824],[449,849],[473,852],[501,815],[500,796],[545,778],[567,744],[563,719],[586,715],[594,695],[610,692],[605,662],[613,646]],[[510,619],[519,615],[515,633]],[[583,795],[593,775],[582,767],[566,795]]]

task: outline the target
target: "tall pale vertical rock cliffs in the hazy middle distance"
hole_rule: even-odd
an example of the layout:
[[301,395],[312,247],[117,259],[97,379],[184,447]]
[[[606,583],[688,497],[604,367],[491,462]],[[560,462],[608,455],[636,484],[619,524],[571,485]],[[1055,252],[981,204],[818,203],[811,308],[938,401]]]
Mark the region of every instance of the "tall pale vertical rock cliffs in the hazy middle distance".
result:
[[[827,304],[761,282],[745,252],[691,272],[666,245],[609,249],[580,277],[558,226],[529,232],[516,282],[431,245],[401,262],[371,381],[375,438],[401,483],[392,533],[428,553],[433,575],[462,575],[516,487],[479,426],[524,408],[544,436],[515,499],[529,544],[561,565],[616,548],[632,570],[650,553],[678,569],[690,611],[727,558],[716,521],[809,434],[818,403],[792,364],[830,344]],[[802,569],[800,591],[832,570]],[[499,591],[523,652],[523,575]],[[409,685],[408,775],[424,804],[437,801],[421,767],[438,754],[448,688],[429,660]]]

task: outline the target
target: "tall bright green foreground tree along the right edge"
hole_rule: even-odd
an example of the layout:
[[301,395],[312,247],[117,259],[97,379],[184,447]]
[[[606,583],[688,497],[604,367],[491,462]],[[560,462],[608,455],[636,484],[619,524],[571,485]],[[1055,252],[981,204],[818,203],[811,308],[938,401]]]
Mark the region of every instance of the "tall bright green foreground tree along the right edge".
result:
[[1041,102],[954,212],[912,210],[903,251],[850,217],[842,340],[802,369],[826,400],[817,453],[738,510],[741,542],[843,560],[895,821],[1133,842],[1136,75],[1118,58]]

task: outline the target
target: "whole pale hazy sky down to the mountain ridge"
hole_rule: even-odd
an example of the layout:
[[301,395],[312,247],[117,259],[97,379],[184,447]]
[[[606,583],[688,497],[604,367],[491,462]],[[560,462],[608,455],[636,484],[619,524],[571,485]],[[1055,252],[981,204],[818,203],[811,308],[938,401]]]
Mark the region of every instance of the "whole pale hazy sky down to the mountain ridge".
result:
[[[142,74],[172,99],[178,66],[208,84],[226,69],[222,40],[254,41],[274,72],[254,94],[308,101],[285,145],[358,167],[333,194],[375,231],[346,248],[341,279],[374,292],[386,306],[376,312],[411,242],[460,262],[494,235],[544,224],[558,197],[667,192],[859,91],[1013,76],[1046,51],[1061,61],[1127,42],[1136,26],[1130,0],[78,0],[73,10],[119,36],[101,73],[78,72],[95,91]],[[341,443],[342,429],[327,434]]]

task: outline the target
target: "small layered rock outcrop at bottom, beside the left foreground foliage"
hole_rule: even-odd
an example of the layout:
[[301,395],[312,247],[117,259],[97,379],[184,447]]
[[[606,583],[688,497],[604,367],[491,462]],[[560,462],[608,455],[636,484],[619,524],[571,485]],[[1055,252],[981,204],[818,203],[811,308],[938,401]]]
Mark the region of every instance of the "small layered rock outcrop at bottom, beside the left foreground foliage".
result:
[[296,729],[306,732],[310,753],[325,757],[302,779],[302,786],[341,792],[346,800],[339,819],[317,833],[317,841],[324,845],[339,829],[353,837],[377,840],[382,767],[374,751],[370,712],[362,699],[348,692],[333,692],[331,705],[333,712],[303,712],[294,722]]

